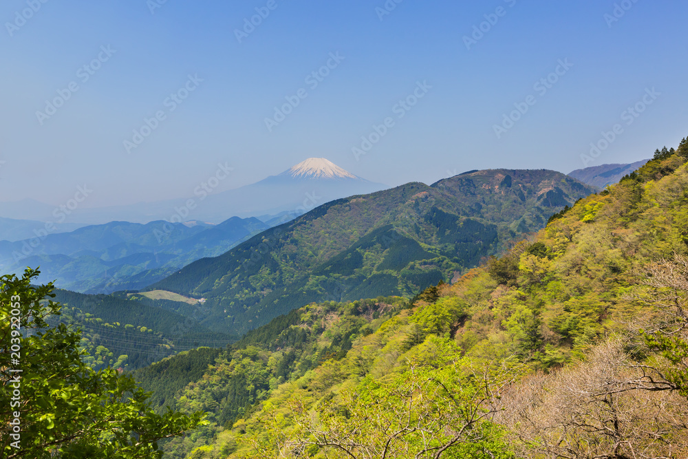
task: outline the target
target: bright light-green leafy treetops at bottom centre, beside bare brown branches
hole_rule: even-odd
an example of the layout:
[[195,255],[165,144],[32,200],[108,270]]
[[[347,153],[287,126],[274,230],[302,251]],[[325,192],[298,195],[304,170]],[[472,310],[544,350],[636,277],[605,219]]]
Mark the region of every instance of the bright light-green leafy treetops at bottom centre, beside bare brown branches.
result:
[[279,431],[268,437],[277,443],[252,444],[265,458],[513,458],[490,420],[509,378],[462,359],[452,341],[429,337],[391,374],[368,375],[312,407],[292,399],[284,414],[266,404],[261,418]]

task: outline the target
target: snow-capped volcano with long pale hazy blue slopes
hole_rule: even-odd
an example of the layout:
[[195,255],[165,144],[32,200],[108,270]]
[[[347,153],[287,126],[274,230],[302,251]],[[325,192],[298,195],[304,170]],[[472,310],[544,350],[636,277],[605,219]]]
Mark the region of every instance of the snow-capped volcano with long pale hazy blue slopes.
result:
[[[158,220],[198,220],[220,223],[230,217],[258,217],[283,212],[302,214],[320,204],[387,188],[345,171],[325,158],[310,158],[279,175],[238,189],[212,193],[199,187],[194,209],[178,211],[187,199],[140,202],[125,206],[76,209],[74,218],[88,224],[112,221],[147,224]],[[0,215],[19,220],[55,220],[54,206],[34,200],[0,202]]]

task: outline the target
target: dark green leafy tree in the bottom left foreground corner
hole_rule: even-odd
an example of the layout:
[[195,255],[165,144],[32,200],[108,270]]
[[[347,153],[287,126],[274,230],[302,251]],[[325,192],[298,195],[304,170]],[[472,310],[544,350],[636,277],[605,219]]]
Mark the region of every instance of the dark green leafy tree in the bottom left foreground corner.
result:
[[155,458],[158,440],[205,423],[156,414],[131,376],[85,365],[80,333],[45,322],[61,305],[38,275],[0,277],[0,458]]

